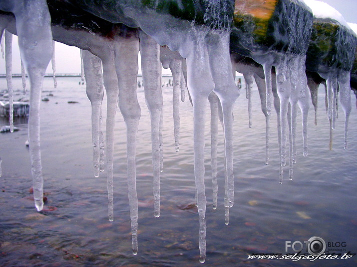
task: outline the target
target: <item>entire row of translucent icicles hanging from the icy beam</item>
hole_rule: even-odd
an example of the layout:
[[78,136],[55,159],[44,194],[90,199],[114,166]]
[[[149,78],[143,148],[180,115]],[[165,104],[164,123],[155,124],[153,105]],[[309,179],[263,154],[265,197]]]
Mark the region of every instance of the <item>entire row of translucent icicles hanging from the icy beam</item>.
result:
[[[154,216],[160,216],[160,172],[163,171],[162,156],[162,92],[161,66],[170,68],[173,75],[173,118],[175,150],[179,151],[179,98],[185,99],[186,82],[194,111],[194,171],[196,183],[196,201],[199,213],[199,247],[200,262],[206,257],[206,195],[204,185],[204,126],[207,99],[211,107],[211,164],[213,181],[213,209],[217,208],[217,132],[218,120],[224,130],[225,145],[225,224],[229,223],[229,208],[233,206],[233,106],[240,92],[235,85],[235,71],[242,66],[229,53],[230,31],[223,25],[215,29],[207,26],[188,25],[180,34],[162,41],[162,36],[155,35],[156,29],[146,25],[138,18],[141,29],[113,39],[95,35],[87,31],[65,29],[60,25],[50,25],[50,15],[45,1],[33,0],[32,8],[11,8],[0,3],[0,9],[12,11],[16,20],[9,16],[4,20],[2,30],[6,28],[19,36],[19,47],[24,66],[30,78],[30,114],[29,114],[29,147],[31,170],[33,177],[33,194],[38,211],[43,208],[43,177],[41,173],[41,157],[39,142],[39,104],[44,71],[52,59],[55,73],[54,43],[56,40],[68,45],[77,46],[81,50],[82,73],[85,73],[86,93],[92,107],[92,143],[94,176],[98,177],[104,170],[104,148],[106,149],[106,168],[108,185],[109,220],[113,221],[113,140],[116,108],[124,117],[127,131],[127,178],[132,228],[133,254],[138,252],[137,220],[138,202],[136,193],[135,149],[141,109],[137,101],[138,51],[141,53],[141,67],[144,94],[151,118],[152,166],[154,191]],[[212,12],[217,6],[210,6]],[[34,19],[39,18],[39,19]],[[143,18],[144,19],[144,18]],[[32,24],[29,22],[33,22]],[[213,23],[216,23],[213,21]],[[28,30],[31,26],[31,31]],[[2,32],[1,30],[1,32]],[[8,82],[10,105],[12,104],[11,86],[11,33],[5,31],[6,78]],[[145,32],[146,33],[145,33]],[[148,35],[148,34],[149,35]],[[81,38],[78,38],[80,35]],[[165,36],[165,34],[163,34]],[[161,46],[160,46],[161,45]],[[167,46],[164,46],[167,45]],[[89,52],[89,51],[90,52]],[[178,52],[172,52],[172,51]],[[252,127],[252,84],[258,85],[262,102],[262,111],[266,116],[266,164],[269,162],[269,115],[271,113],[272,95],[274,107],[278,113],[278,133],[280,148],[280,183],[283,178],[283,167],[286,165],[287,142],[290,143],[290,179],[293,177],[293,163],[296,162],[296,115],[297,105],[303,114],[303,154],[308,154],[307,114],[309,109],[309,92],[305,74],[305,55],[293,53],[257,57],[263,65],[265,79],[259,75],[261,70],[246,68],[244,74],[249,99],[249,127]],[[162,65],[161,65],[162,63]],[[233,65],[233,68],[232,68]],[[276,72],[272,74],[272,67]],[[56,86],[55,74],[54,86]],[[276,77],[274,77],[276,76]],[[22,74],[25,77],[24,71]],[[348,115],[351,110],[350,73],[339,74],[342,106],[346,116],[346,138]],[[327,77],[328,116],[336,117],[336,81]],[[103,100],[103,82],[107,94],[106,136],[101,130],[101,104]],[[24,83],[25,87],[25,83]],[[25,90],[25,89],[24,89]],[[332,122],[334,125],[334,122]],[[10,115],[10,126],[13,127]],[[288,133],[289,131],[289,133]],[[104,147],[105,140],[105,147]],[[346,141],[347,148],[347,141]]]

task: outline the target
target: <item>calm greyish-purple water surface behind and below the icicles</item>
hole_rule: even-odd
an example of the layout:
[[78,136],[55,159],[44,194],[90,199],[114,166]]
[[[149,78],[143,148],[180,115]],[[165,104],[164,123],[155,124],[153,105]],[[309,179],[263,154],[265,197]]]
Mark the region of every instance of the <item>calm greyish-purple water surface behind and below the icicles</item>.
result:
[[[141,77],[138,78],[141,81]],[[167,83],[169,79],[163,78]],[[329,150],[329,122],[320,88],[318,126],[313,107],[309,114],[309,155],[302,155],[301,116],[298,118],[298,157],[293,181],[288,167],[279,184],[276,114],[271,118],[271,160],[265,165],[265,117],[257,88],[253,91],[253,128],[248,128],[245,90],[235,106],[235,205],[230,224],[224,224],[223,135],[218,148],[218,208],[212,209],[209,118],[206,123],[207,258],[199,263],[197,209],[193,175],[191,104],[180,103],[180,151],[175,152],[172,87],[164,87],[164,172],[161,176],[161,216],[153,216],[150,117],[143,87],[137,141],[139,253],[131,254],[129,203],[126,185],[126,134],[117,112],[114,154],[114,222],[108,221],[106,174],[93,177],[90,102],[80,78],[58,78],[53,88],[45,78],[41,103],[41,153],[44,211],[37,213],[31,187],[27,124],[15,120],[15,133],[0,134],[0,266],[357,266],[349,260],[248,260],[254,253],[285,255],[285,242],[346,242],[346,252],[357,253],[357,110],[352,94],[349,149],[345,150],[343,111]],[[21,80],[14,79],[15,100],[22,98]],[[0,91],[6,88],[0,79]],[[244,85],[243,85],[244,88]],[[47,96],[48,94],[53,96]],[[28,96],[27,96],[28,97]],[[77,101],[68,104],[68,101]],[[105,99],[104,99],[105,102]],[[103,105],[105,111],[105,104]],[[105,119],[105,112],[103,114]],[[0,119],[0,125],[8,125]],[[103,128],[105,128],[103,126]],[[333,249],[330,247],[329,249]],[[304,250],[305,252],[305,250]],[[346,253],[342,252],[342,253]],[[291,249],[288,253],[293,253]],[[333,253],[333,252],[331,252]],[[341,252],[335,252],[341,253]]]

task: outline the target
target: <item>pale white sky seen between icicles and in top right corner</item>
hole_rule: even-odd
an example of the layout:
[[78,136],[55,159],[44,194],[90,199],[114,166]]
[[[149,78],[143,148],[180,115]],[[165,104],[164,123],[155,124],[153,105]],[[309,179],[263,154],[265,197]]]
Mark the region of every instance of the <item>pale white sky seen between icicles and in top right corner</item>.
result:
[[[357,0],[324,0],[335,7],[346,19],[347,22],[357,23]],[[12,73],[21,73],[20,53],[17,46],[17,36],[12,40]],[[68,46],[62,43],[55,43],[56,73],[80,73],[80,52],[77,47]],[[0,74],[5,74],[5,60],[0,52]],[[46,73],[52,73],[51,63],[48,65]],[[139,60],[139,73],[141,66]],[[163,70],[163,74],[170,74],[170,70]]]

